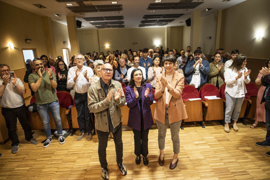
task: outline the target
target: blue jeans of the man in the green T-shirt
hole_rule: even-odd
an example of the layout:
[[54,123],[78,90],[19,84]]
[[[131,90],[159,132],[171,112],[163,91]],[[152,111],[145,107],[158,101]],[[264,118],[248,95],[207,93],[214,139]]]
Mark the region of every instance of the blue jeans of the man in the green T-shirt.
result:
[[38,113],[42,119],[43,129],[47,138],[52,137],[49,111],[52,113],[53,120],[57,129],[58,136],[62,136],[62,122],[60,118],[60,107],[58,101],[54,101],[48,104],[38,104]]

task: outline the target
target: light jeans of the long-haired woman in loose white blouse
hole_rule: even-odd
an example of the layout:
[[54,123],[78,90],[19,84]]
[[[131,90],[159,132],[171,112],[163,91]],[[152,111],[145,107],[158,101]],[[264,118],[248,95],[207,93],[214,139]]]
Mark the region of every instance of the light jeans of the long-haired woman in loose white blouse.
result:
[[226,97],[225,123],[230,123],[231,119],[233,121],[237,121],[245,97],[233,98],[227,92],[225,92],[225,97]]

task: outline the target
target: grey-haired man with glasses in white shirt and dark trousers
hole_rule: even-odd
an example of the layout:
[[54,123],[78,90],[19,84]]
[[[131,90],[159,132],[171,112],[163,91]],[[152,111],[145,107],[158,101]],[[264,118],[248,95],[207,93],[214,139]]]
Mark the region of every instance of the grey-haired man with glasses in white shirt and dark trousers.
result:
[[78,113],[77,121],[81,132],[77,140],[82,140],[87,136],[87,140],[92,139],[93,124],[90,120],[90,113],[87,107],[87,90],[90,87],[90,78],[94,76],[91,67],[84,66],[85,58],[82,54],[76,54],[74,61],[76,66],[70,67],[67,74],[67,85],[73,86],[75,91],[74,101]]

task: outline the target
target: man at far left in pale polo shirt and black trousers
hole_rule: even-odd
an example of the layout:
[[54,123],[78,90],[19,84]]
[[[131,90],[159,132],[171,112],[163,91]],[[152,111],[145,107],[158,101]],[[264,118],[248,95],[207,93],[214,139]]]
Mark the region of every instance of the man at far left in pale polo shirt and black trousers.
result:
[[32,129],[27,120],[26,106],[22,94],[26,93],[22,81],[19,78],[10,77],[10,68],[6,64],[0,64],[0,106],[5,118],[8,137],[12,144],[12,153],[18,152],[19,138],[16,133],[17,118],[23,128],[24,136],[28,143],[38,144],[32,136]]

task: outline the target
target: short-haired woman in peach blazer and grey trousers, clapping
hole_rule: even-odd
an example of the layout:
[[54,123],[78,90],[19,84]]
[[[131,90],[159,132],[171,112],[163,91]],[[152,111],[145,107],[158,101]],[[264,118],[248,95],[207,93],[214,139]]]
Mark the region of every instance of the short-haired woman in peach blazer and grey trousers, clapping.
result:
[[165,73],[159,74],[156,81],[155,97],[158,98],[154,118],[158,125],[158,147],[160,149],[159,164],[164,164],[164,148],[167,126],[170,126],[173,141],[173,160],[170,169],[174,169],[178,163],[180,152],[179,130],[182,119],[187,119],[187,112],[182,100],[184,88],[184,75],[174,71],[176,58],[167,55],[163,59]]

